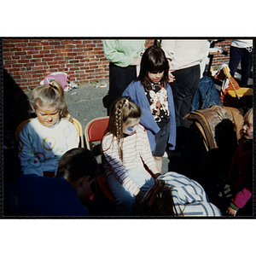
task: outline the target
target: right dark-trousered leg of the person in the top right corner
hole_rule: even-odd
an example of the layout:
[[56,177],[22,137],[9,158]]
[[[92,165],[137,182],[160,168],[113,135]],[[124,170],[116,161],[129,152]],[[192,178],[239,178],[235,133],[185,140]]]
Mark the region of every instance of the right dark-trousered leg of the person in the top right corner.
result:
[[253,49],[243,49],[241,59],[241,87],[247,87],[247,82],[250,77],[251,69],[253,67]]

